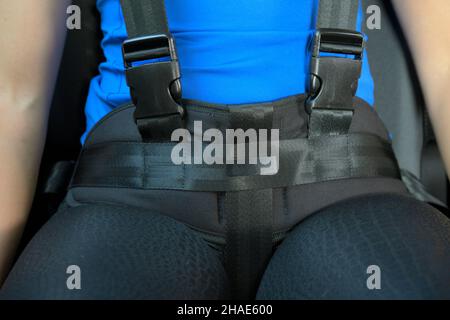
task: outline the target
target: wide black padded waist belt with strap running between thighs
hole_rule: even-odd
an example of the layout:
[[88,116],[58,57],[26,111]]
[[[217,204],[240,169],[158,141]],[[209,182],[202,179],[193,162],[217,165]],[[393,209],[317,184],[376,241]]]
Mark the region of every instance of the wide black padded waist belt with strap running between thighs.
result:
[[[116,110],[88,137],[66,203],[137,206],[186,223],[223,246],[234,296],[251,297],[272,245],[306,216],[359,194],[405,192],[387,133],[367,104],[353,101],[347,134],[308,138],[304,101],[239,108],[184,103],[191,131],[194,121],[204,130],[279,129],[274,176],[260,175],[258,165],[174,165],[175,143],[143,142],[134,107]],[[172,206],[180,201],[186,206]]]

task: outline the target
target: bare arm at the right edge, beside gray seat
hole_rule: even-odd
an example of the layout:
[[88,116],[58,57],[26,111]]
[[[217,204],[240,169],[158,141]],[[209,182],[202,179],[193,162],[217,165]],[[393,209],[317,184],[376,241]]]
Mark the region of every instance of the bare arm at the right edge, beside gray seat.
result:
[[394,0],[450,173],[450,1]]

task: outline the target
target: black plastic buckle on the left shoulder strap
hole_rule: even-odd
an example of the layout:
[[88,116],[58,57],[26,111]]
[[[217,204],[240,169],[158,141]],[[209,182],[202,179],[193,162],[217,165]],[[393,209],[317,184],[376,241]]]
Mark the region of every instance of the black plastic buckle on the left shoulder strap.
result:
[[[123,58],[138,126],[144,120],[155,119],[156,136],[157,130],[170,130],[157,128],[158,124],[168,124],[162,118],[171,118],[169,122],[180,127],[184,108],[179,104],[181,74],[173,38],[162,34],[129,39],[123,44]],[[151,61],[160,58],[168,59]],[[140,64],[134,66],[136,62]]]

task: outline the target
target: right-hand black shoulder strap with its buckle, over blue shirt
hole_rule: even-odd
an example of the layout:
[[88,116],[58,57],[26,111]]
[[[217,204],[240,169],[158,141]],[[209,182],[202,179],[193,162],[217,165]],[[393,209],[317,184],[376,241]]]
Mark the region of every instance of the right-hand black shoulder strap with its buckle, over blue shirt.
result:
[[[353,112],[349,110],[361,74],[363,36],[356,30],[359,0],[320,0],[316,34],[312,41],[310,136],[346,134]],[[322,53],[351,54],[352,58]]]

